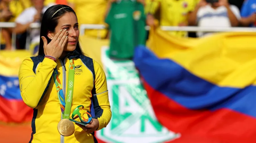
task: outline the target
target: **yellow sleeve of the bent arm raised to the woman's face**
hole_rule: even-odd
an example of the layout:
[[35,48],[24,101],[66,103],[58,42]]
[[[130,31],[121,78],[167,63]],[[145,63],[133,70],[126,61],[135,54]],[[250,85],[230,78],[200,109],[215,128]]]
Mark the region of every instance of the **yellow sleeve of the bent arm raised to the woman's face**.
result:
[[33,65],[31,58],[23,60],[19,69],[19,84],[24,103],[31,108],[36,108],[57,63],[44,58],[36,69],[36,74],[33,71]]

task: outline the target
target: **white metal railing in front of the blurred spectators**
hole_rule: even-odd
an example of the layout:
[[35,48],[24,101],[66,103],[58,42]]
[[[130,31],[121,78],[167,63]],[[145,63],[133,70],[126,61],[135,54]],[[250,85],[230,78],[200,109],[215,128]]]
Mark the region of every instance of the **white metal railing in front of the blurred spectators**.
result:
[[[16,23],[14,22],[0,22],[0,33],[2,28],[14,28]],[[189,31],[189,32],[256,32],[256,28],[253,27],[197,27],[197,26],[160,26],[164,31]],[[28,31],[33,28],[40,28],[40,23],[32,23]],[[80,25],[80,35],[84,35],[86,29],[106,29],[106,26],[103,24],[81,24]],[[146,30],[149,30],[150,27],[146,26]],[[100,31],[98,33],[100,35]],[[98,36],[100,37],[100,36]],[[1,34],[0,34],[1,40]],[[27,36],[26,40],[26,49],[29,49],[30,46],[30,36]],[[12,33],[12,47],[16,49],[16,33]]]

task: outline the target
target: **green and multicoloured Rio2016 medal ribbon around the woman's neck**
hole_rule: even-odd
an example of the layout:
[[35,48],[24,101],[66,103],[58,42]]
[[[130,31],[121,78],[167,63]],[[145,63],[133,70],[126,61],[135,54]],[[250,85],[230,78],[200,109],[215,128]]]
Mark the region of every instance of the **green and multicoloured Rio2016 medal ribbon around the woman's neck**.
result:
[[57,95],[59,98],[59,105],[61,108],[63,119],[69,119],[73,92],[74,92],[74,78],[75,78],[75,63],[74,63],[74,60],[71,59],[69,60],[69,75],[68,75],[68,85],[67,85],[68,88],[67,88],[67,96],[65,100],[64,92],[66,91],[63,92],[61,82],[59,80],[58,70],[57,68],[55,68],[53,71],[53,79],[56,85]]

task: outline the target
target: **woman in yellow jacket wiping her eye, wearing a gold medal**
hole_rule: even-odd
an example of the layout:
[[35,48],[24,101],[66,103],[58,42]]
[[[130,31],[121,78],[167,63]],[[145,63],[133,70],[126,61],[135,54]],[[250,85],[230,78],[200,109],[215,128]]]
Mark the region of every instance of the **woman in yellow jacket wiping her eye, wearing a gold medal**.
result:
[[[66,5],[49,7],[40,36],[38,56],[26,58],[19,70],[22,99],[34,110],[30,142],[97,142],[94,131],[106,127],[112,116],[106,75],[82,53],[74,10]],[[79,105],[84,107],[82,120],[74,119],[88,124],[69,120]],[[93,110],[91,121],[83,116]]]

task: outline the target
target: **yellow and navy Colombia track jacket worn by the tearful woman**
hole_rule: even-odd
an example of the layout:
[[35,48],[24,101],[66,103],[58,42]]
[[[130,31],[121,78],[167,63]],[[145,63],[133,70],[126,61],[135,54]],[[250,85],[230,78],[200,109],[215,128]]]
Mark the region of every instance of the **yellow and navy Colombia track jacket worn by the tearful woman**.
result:
[[[94,133],[87,133],[75,125],[75,133],[62,136],[57,124],[62,119],[56,86],[52,77],[57,68],[64,96],[67,95],[67,77],[69,60],[75,62],[74,93],[71,107],[73,110],[83,105],[84,110],[95,112],[99,120],[98,130],[110,122],[112,112],[108,99],[106,75],[101,66],[93,59],[73,52],[65,58],[54,62],[43,56],[26,58],[19,70],[20,91],[23,101],[33,108],[32,143],[92,143],[97,142]],[[93,104],[93,108],[92,108]],[[93,113],[92,113],[93,114]]]

